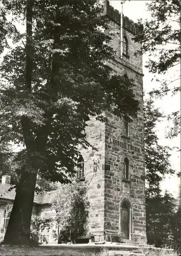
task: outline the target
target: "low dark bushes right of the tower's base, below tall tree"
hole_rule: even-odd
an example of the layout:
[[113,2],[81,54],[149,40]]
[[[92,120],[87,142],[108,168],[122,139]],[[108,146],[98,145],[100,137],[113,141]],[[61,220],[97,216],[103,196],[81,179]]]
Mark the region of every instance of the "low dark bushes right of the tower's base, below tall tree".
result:
[[175,245],[175,199],[167,191],[146,199],[147,240],[157,247]]

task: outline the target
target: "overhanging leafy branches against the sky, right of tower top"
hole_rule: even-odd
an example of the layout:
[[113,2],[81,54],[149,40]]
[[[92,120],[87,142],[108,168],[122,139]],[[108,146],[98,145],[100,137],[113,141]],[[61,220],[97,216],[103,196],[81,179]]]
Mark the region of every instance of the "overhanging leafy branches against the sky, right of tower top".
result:
[[[146,66],[148,70],[151,73],[165,74],[180,63],[180,1],[156,0],[146,5],[151,20],[146,19],[144,22],[142,19],[139,20],[143,30],[136,40],[143,43],[142,52],[150,53]],[[160,90],[154,93],[167,93],[168,85],[165,81]],[[175,93],[179,90],[178,87],[173,91]]]

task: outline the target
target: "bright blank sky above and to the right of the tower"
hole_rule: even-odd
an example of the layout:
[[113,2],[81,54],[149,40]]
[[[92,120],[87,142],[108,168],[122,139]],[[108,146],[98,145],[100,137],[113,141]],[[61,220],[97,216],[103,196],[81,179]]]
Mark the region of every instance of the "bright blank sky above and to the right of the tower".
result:
[[[135,23],[139,18],[150,18],[149,12],[146,10],[146,3],[150,1],[138,1],[138,0],[131,0],[131,1],[125,1],[123,4],[123,14],[124,16],[127,16],[128,18],[132,19]],[[115,9],[117,9],[119,12],[121,11],[121,1],[118,0],[110,0],[110,5],[112,5]],[[147,96],[147,93],[151,91],[153,88],[159,87],[159,83],[151,82],[151,79],[153,78],[153,74],[149,73],[148,70],[144,67],[146,63],[146,59],[148,58],[147,55],[143,55],[143,88],[145,92],[145,97]],[[178,69],[178,68],[177,68]],[[180,71],[177,71],[180,72]],[[164,78],[174,78],[174,74],[176,73],[176,68],[172,69],[168,74],[164,75]],[[178,81],[179,83],[179,81]],[[180,109],[180,94],[171,97],[170,95],[165,96],[162,99],[154,100],[154,105],[160,109],[161,112],[163,112],[165,115],[171,114],[174,111],[177,111]],[[180,135],[178,135],[174,139],[166,139],[165,135],[168,131],[167,125],[171,125],[171,123],[168,123],[167,121],[161,122],[157,125],[157,134],[159,137],[159,143],[162,145],[167,145],[170,147],[177,146],[180,148]],[[170,162],[172,164],[172,167],[176,169],[178,172],[180,172],[180,153],[176,152],[176,150],[171,152],[171,158]],[[163,191],[166,189],[170,191],[170,193],[173,194],[174,197],[177,197],[178,195],[178,186],[180,184],[180,178],[177,178],[176,176],[167,176],[164,182],[161,184],[161,188]]]

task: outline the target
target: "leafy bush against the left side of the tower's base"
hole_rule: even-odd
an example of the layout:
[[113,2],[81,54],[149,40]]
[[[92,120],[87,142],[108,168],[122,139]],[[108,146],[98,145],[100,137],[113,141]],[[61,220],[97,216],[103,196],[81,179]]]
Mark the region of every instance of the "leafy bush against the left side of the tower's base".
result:
[[76,182],[61,186],[56,193],[51,202],[51,208],[56,211],[59,236],[66,231],[73,240],[85,234],[89,214],[86,193],[86,187]]

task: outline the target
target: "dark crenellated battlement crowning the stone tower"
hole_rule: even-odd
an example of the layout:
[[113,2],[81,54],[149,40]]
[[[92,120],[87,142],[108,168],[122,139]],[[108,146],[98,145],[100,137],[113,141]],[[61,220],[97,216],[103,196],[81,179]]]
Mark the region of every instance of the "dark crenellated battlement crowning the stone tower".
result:
[[[114,22],[118,23],[120,25],[121,20],[121,14],[118,10],[114,9],[112,6],[110,6],[110,3],[108,0],[106,0],[106,14],[114,20]],[[133,22],[133,20],[129,19],[128,17],[123,15],[123,27],[124,29],[130,31],[134,35],[139,35],[139,28],[136,23]]]

